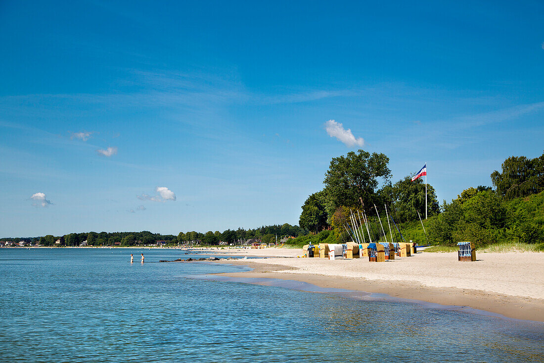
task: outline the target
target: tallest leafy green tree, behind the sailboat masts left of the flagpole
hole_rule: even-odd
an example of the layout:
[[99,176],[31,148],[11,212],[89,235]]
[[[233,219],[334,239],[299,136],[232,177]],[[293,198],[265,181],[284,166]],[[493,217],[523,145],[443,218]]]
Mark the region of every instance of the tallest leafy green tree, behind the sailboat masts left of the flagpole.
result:
[[357,153],[349,152],[346,156],[333,158],[323,181],[327,214],[331,216],[342,205],[360,207],[359,198],[362,198],[364,208],[372,207],[378,179],[383,183],[391,179],[388,164],[389,158],[385,154],[370,154],[361,149]]

